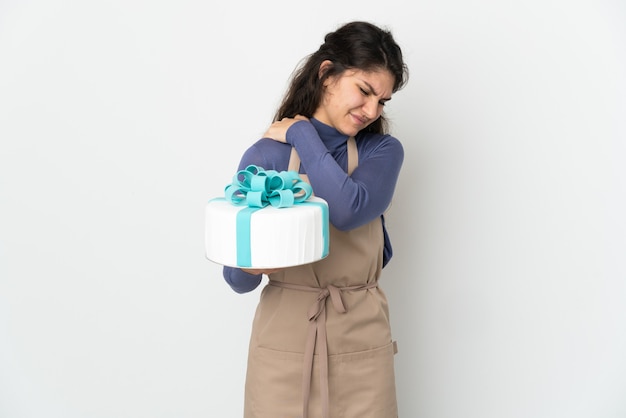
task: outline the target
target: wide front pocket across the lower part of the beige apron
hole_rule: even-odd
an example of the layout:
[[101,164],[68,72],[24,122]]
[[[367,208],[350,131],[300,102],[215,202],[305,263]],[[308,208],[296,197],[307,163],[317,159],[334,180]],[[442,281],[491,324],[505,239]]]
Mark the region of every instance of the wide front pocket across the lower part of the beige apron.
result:
[[[395,342],[382,347],[328,358],[330,415],[333,418],[397,417],[394,375]],[[302,415],[304,356],[256,347],[248,357],[246,418]],[[313,360],[310,416],[318,416],[319,360]]]

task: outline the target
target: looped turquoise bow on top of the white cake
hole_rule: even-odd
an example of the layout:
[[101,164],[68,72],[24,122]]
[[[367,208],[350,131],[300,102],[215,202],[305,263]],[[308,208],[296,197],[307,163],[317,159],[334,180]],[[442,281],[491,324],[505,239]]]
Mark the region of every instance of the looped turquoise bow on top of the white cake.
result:
[[235,174],[224,194],[237,206],[285,208],[307,200],[313,189],[296,171],[278,172],[249,165]]

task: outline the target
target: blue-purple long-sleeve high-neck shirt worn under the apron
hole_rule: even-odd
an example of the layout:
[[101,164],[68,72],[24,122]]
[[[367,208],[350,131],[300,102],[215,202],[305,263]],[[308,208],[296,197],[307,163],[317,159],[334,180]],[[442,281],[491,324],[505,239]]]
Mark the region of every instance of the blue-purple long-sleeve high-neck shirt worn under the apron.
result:
[[[263,138],[246,150],[239,170],[254,164],[266,170],[287,170],[291,147],[300,156],[300,172],[306,173],[315,195],[328,202],[330,223],[350,230],[377,217],[383,220],[383,266],[392,249],[383,212],[391,203],[404,159],[402,144],[390,135],[359,133],[356,136],[359,165],[351,176],[348,166],[348,136],[316,119],[299,121],[287,130],[287,144]],[[254,290],[262,275],[224,267],[226,282],[237,293]]]

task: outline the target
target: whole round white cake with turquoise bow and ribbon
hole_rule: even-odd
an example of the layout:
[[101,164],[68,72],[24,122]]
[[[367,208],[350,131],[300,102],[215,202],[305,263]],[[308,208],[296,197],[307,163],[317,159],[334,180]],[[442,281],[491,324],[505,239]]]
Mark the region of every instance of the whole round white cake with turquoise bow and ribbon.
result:
[[[209,260],[225,266],[262,269],[308,264],[328,255],[326,201],[311,196],[310,186],[303,184],[295,172],[267,173],[250,166],[235,176],[233,185],[226,188],[226,197],[209,200],[205,216]],[[292,191],[284,191],[292,183],[299,196],[295,202],[290,196]],[[262,192],[255,191],[259,184]],[[282,186],[285,184],[289,187]],[[280,191],[270,190],[274,187]],[[279,193],[285,193],[284,198],[277,196]],[[283,205],[285,201],[289,203]]]

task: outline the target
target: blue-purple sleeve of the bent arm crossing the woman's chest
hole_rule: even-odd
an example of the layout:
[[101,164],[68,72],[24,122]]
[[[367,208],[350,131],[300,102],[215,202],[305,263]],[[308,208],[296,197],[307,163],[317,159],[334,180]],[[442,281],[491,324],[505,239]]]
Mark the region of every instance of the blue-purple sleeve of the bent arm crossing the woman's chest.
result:
[[315,194],[328,202],[330,221],[336,228],[364,225],[381,216],[391,203],[404,160],[396,138],[381,136],[365,155],[359,150],[359,165],[351,176],[335,161],[310,122],[294,123],[286,139],[298,151]]

